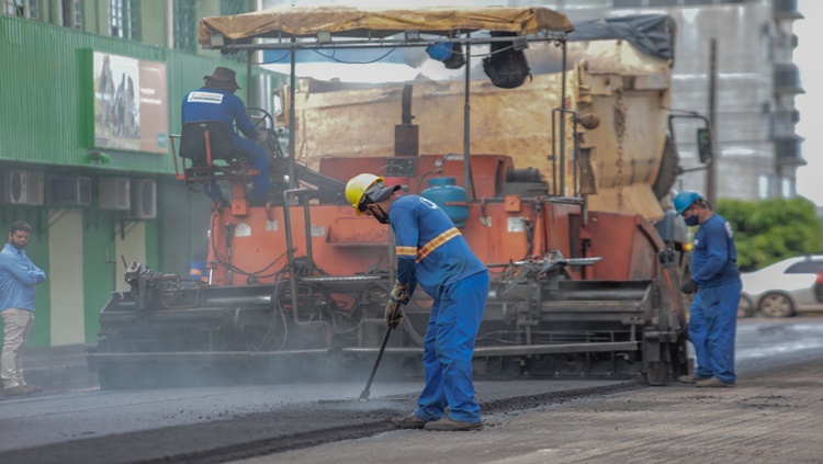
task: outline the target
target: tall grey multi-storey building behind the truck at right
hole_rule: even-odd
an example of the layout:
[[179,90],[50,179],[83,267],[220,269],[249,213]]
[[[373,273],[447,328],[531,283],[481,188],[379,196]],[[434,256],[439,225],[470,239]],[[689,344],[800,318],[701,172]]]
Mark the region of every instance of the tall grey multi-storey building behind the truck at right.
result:
[[[514,2],[512,2],[514,3]],[[791,197],[805,165],[800,114],[803,93],[792,61],[802,19],[797,0],[556,0],[542,2],[573,20],[665,12],[677,22],[672,104],[709,113],[710,43],[717,41],[714,114],[718,197]],[[680,127],[678,126],[678,129]],[[689,127],[690,129],[690,127]],[[679,136],[685,168],[698,166],[691,136]],[[706,171],[687,172],[683,189],[706,191]]]

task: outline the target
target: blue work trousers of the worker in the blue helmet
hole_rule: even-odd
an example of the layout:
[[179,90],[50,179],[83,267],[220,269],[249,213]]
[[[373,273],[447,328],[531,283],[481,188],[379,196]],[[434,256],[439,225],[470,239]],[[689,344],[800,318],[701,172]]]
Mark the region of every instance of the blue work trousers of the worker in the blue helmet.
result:
[[700,287],[691,302],[689,337],[697,354],[695,375],[735,383],[734,338],[741,281]]

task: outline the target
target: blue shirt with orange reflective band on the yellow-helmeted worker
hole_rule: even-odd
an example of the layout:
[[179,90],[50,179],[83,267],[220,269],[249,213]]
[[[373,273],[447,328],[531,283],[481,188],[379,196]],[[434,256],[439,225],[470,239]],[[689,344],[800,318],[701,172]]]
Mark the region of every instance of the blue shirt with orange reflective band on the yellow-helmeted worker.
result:
[[388,208],[397,252],[397,280],[432,297],[441,285],[485,271],[460,230],[431,201],[404,195]]

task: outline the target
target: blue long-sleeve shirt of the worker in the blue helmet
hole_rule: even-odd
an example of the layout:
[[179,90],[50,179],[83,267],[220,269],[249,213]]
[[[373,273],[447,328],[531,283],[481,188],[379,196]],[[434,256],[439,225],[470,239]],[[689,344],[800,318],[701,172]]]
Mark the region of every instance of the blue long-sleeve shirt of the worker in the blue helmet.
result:
[[700,224],[691,254],[691,280],[698,286],[711,287],[740,279],[734,231],[718,214]]

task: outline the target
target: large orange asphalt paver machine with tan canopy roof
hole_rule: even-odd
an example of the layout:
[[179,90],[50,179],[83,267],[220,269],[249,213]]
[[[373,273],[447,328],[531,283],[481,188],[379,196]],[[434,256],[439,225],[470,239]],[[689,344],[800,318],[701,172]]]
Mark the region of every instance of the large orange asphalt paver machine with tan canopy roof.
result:
[[[293,7],[204,19],[205,48],[245,54],[249,63],[259,50],[291,56],[283,93],[288,143],[281,150],[273,133],[273,191],[268,204],[251,206],[245,196],[251,173],[223,144],[225,134],[207,122],[183,128],[178,178],[230,184],[232,204],[211,213],[208,279],[194,283],[131,264],[131,291],[114,293],[102,309],[99,342],[88,357],[101,386],[278,381],[297,373],[364,378],[385,332],[395,256],[388,227],[357,216],[343,199],[345,182],[361,172],[441,205],[489,268],[477,376],[636,377],[659,385],[686,373],[678,290],[686,253],[641,214],[589,207],[582,149],[608,115],[568,103],[575,75],[566,59],[552,77],[556,92],[544,95],[548,123],[532,134],[546,140],[544,167],[520,165],[518,152],[477,152],[472,143],[472,90],[487,89],[501,102],[520,90],[472,76],[473,50],[544,44],[565,58],[572,30],[564,14],[542,7]],[[395,95],[398,121],[363,126],[354,112],[348,122],[364,138],[393,133],[394,152],[319,157],[316,166],[297,159],[313,134],[296,107],[298,50],[432,45],[462,52],[465,60],[463,117],[451,122],[462,152],[420,152],[427,136],[414,124],[407,83]],[[527,79],[522,87],[531,84]],[[518,117],[517,111],[497,116]],[[385,351],[386,373],[421,375],[430,304],[418,292],[405,308]]]

